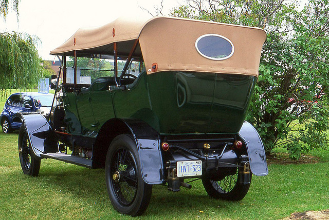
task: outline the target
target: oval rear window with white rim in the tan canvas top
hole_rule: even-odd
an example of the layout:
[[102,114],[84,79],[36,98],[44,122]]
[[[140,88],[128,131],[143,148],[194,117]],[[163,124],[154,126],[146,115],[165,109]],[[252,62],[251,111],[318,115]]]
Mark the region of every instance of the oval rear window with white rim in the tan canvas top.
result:
[[227,59],[234,53],[232,42],[225,36],[218,34],[199,36],[196,39],[195,48],[200,55],[215,61]]

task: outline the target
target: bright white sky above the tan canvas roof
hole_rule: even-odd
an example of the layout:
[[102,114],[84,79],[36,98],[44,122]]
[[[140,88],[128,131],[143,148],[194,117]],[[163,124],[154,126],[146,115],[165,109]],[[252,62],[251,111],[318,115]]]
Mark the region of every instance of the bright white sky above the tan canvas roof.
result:
[[[301,5],[305,5],[307,0],[302,2]],[[160,3],[161,0],[21,0],[20,22],[17,24],[16,13],[10,11],[6,22],[0,17],[0,32],[18,31],[38,36],[42,43],[39,55],[53,60],[49,52],[63,44],[78,28],[101,26],[120,16],[151,17],[139,6],[154,12],[154,6]],[[166,15],[170,9],[184,3],[184,0],[163,0],[162,13]]]

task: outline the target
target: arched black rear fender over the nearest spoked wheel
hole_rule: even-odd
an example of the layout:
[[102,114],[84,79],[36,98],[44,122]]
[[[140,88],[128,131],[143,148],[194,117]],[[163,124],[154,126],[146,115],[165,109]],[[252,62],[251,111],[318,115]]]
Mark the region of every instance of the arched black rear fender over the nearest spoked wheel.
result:
[[136,118],[112,118],[100,129],[93,148],[93,167],[100,167],[106,155],[105,145],[122,133],[129,133],[136,142],[140,168],[144,182],[161,184],[163,182],[163,164],[160,151],[160,137],[147,123]]

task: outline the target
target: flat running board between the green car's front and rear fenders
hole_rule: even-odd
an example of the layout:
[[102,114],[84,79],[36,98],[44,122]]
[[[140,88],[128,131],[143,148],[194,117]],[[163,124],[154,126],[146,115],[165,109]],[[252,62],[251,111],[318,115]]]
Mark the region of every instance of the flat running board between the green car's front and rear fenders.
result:
[[65,153],[41,153],[41,158],[57,159],[66,163],[79,165],[86,168],[92,168],[92,159],[86,159],[79,156],[73,156]]

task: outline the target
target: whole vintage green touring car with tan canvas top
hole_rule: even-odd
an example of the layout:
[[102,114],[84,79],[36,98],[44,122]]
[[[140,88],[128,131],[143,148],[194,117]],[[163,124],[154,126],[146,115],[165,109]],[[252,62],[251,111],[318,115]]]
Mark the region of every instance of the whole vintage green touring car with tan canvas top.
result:
[[244,198],[251,174],[268,173],[244,122],[265,38],[174,17],[79,29],[50,52],[62,61],[52,113],[21,115],[23,172],[37,176],[43,158],[105,168],[111,203],[133,216],[154,184],[175,192],[202,179],[211,197]]

